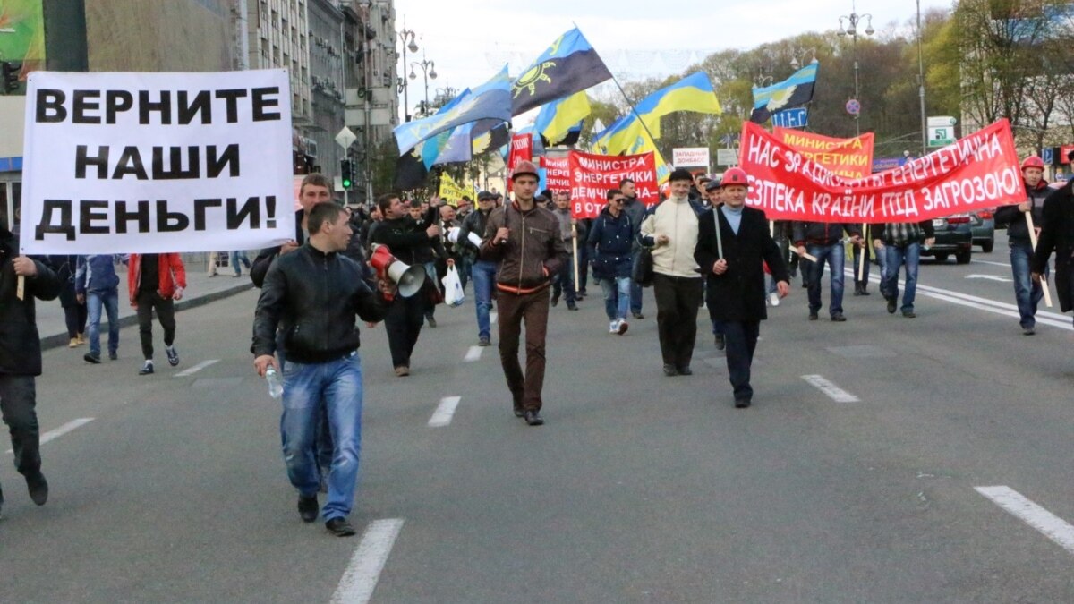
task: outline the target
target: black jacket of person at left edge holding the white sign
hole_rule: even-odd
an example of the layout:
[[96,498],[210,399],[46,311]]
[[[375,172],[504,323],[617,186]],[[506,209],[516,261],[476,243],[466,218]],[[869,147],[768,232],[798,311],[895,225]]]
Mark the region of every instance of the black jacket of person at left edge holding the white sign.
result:
[[33,258],[38,274],[26,277],[19,300],[18,275],[12,263],[18,256],[18,238],[0,229],[0,374],[41,375],[41,336],[33,299],[55,300],[61,284],[47,262]]

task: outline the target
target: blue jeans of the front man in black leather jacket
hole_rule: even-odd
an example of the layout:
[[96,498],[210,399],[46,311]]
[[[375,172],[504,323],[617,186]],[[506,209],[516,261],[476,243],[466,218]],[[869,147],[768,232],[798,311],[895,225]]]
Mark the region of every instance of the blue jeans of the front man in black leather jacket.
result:
[[282,403],[279,430],[284,463],[291,485],[303,497],[316,495],[319,487],[315,443],[324,406],[335,446],[321,516],[325,521],[346,517],[354,503],[362,444],[362,361],[358,351],[323,363],[289,359],[284,370]]

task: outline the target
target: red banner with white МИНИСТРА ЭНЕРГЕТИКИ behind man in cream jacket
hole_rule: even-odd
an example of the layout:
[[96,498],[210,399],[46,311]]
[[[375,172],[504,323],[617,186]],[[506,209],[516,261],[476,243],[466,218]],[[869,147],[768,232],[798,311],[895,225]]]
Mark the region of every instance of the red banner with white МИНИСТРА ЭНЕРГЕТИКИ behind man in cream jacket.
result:
[[570,215],[596,218],[608,203],[608,191],[623,178],[637,186],[638,200],[652,205],[661,200],[656,188],[656,159],[652,152],[641,155],[593,155],[570,152]]

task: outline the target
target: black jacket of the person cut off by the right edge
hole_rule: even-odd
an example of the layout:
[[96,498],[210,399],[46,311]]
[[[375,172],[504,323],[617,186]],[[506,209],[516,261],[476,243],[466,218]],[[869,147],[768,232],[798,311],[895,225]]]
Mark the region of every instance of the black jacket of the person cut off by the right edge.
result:
[[1071,273],[1074,272],[1074,181],[1051,191],[1044,200],[1044,225],[1033,253],[1033,272],[1044,273],[1048,258],[1056,254],[1056,289],[1062,312],[1074,308]]

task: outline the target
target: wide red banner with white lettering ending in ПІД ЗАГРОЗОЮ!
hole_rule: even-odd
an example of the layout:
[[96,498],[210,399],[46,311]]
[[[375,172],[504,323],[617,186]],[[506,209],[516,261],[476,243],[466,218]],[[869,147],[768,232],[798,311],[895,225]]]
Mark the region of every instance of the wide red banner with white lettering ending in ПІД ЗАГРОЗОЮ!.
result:
[[1011,125],[1002,119],[900,168],[845,178],[760,126],[742,125],[746,203],[770,220],[916,222],[1025,201]]

